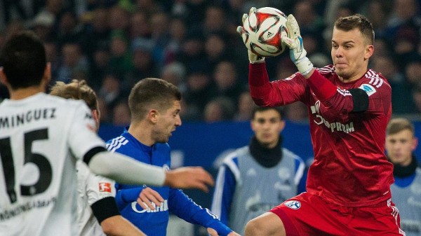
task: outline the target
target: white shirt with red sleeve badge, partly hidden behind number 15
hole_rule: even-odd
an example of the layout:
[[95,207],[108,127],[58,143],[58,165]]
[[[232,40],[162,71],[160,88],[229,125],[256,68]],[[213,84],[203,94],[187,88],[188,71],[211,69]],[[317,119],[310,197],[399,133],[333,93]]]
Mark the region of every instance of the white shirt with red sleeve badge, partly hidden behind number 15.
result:
[[78,160],[77,171],[77,211],[80,236],[102,236],[101,225],[93,215],[91,205],[105,197],[114,197],[116,189],[114,181],[104,176],[95,175],[89,167]]

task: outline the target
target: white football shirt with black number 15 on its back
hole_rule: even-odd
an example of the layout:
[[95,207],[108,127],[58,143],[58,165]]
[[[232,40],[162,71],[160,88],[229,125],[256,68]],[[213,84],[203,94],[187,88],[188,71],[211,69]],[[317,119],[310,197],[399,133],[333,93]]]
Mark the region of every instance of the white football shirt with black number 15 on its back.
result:
[[76,160],[104,141],[83,101],[38,93],[0,104],[1,235],[77,235]]

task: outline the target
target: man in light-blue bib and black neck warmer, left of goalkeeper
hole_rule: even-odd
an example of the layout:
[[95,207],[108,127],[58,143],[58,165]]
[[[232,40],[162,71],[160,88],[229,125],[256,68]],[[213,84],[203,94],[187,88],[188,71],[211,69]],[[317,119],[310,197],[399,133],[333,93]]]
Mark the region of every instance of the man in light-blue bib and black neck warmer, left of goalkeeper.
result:
[[250,144],[219,167],[211,208],[241,235],[248,221],[304,192],[307,172],[305,162],[282,146],[285,120],[279,107],[255,108],[250,127]]

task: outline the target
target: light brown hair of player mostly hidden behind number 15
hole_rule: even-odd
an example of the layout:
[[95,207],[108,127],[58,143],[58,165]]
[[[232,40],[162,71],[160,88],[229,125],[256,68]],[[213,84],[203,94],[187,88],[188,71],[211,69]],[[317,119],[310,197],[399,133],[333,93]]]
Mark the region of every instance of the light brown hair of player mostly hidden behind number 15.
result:
[[58,81],[51,88],[51,95],[64,98],[82,99],[89,109],[98,111],[98,99],[95,91],[89,87],[85,80],[72,80],[71,83]]

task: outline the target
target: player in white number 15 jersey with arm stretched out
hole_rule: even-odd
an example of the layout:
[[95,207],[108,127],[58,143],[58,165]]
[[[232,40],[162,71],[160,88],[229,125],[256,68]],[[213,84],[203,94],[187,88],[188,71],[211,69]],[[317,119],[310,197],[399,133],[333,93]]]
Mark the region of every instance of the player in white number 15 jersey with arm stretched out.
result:
[[11,95],[0,104],[1,235],[77,235],[76,159],[128,184],[207,190],[213,183],[200,167],[165,172],[107,152],[84,102],[44,93],[51,67],[33,32],[6,41],[0,66]]

